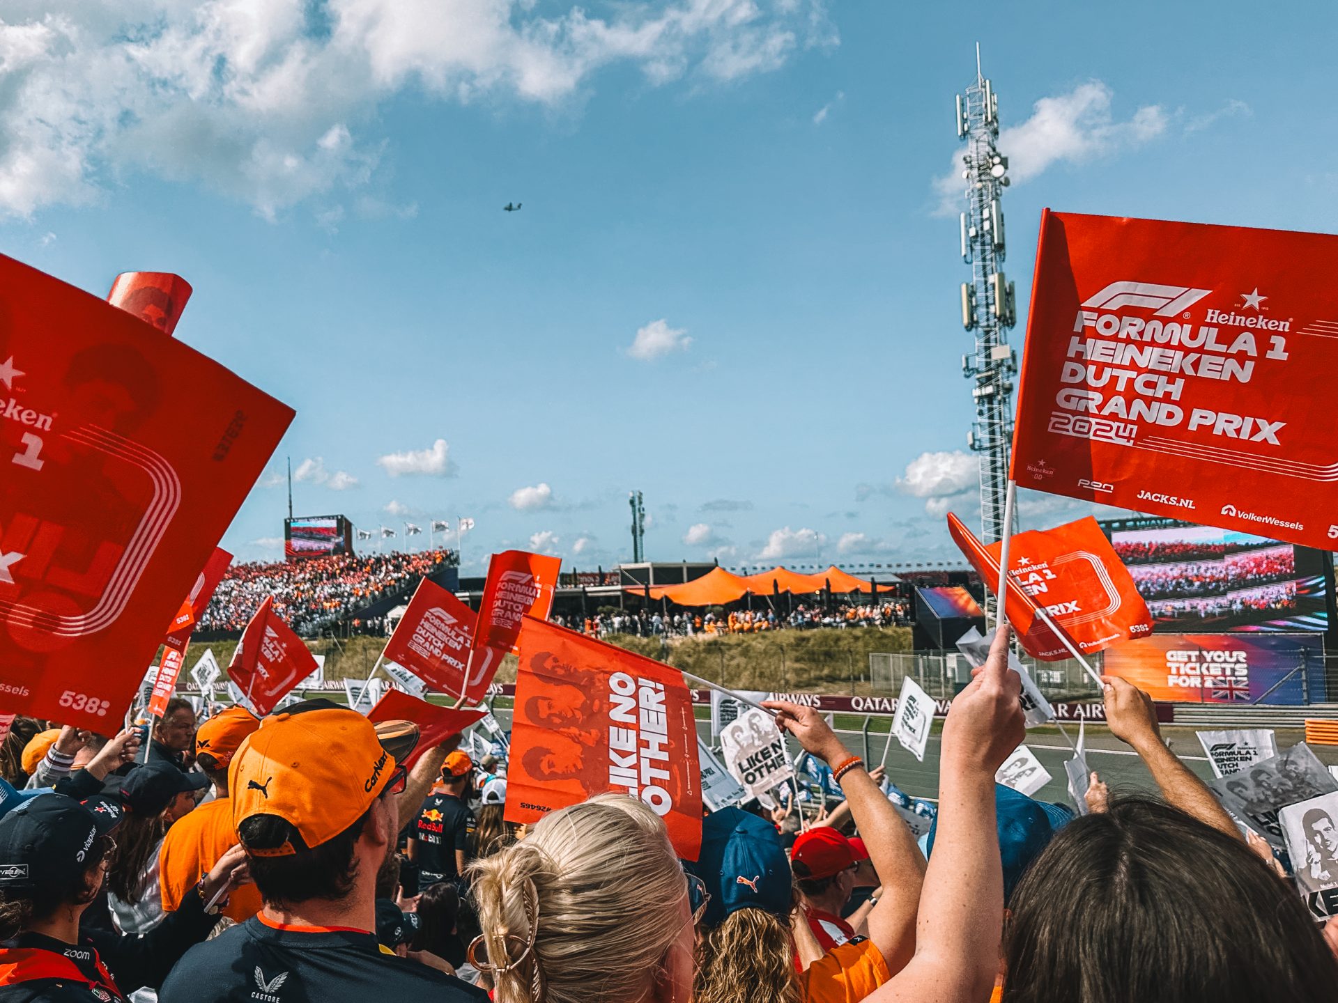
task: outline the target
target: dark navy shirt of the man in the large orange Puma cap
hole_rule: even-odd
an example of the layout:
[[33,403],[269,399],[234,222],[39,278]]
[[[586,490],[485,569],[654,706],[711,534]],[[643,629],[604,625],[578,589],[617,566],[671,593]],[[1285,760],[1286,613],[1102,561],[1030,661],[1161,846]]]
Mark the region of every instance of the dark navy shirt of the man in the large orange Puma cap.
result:
[[258,916],[193,947],[159,1003],[487,1003],[488,994],[419,962],[384,954],[375,933],[277,929]]

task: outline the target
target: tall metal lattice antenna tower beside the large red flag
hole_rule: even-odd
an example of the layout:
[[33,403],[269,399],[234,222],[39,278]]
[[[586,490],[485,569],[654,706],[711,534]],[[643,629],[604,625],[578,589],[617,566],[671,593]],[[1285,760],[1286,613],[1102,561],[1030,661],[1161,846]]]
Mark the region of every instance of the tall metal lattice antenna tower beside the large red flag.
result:
[[[1004,500],[1008,492],[1009,447],[1013,441],[1013,377],[1017,354],[1008,332],[1017,324],[1013,284],[1002,271],[1004,205],[1008,158],[998,148],[998,95],[981,75],[981,47],[975,45],[975,83],[957,95],[957,136],[966,142],[962,178],[962,261],[971,281],[962,282],[962,326],[975,332],[975,350],[962,356],[962,374],[971,381],[975,423],[966,444],[981,457],[981,538],[1004,538]],[[993,594],[991,594],[993,595]]]

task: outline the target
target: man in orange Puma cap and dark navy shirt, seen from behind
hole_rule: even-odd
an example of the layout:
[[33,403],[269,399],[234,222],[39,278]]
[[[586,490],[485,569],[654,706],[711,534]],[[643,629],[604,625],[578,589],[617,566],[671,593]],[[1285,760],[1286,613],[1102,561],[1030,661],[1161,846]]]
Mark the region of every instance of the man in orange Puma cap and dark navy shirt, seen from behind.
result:
[[193,947],[158,999],[486,1003],[482,990],[379,947],[376,877],[407,774],[365,717],[322,703],[269,715],[233,756],[233,822],[264,905]]

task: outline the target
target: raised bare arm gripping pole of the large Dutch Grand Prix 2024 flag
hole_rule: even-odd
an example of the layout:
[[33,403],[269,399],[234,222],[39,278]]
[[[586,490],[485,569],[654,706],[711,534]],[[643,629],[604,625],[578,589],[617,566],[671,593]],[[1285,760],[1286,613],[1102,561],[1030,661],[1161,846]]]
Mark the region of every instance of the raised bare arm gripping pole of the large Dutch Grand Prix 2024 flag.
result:
[[[1026,734],[1008,627],[943,725],[938,830],[921,893],[915,956],[870,1003],[959,1003],[990,995],[1004,929],[994,772]],[[882,903],[879,903],[882,905]]]

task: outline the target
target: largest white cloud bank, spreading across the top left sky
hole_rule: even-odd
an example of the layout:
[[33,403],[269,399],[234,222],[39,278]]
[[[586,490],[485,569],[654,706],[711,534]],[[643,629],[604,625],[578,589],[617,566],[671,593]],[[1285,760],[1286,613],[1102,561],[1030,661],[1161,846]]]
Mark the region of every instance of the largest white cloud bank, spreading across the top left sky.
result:
[[90,202],[104,178],[147,170],[273,218],[365,185],[384,143],[363,128],[403,91],[553,107],[578,102],[609,66],[650,86],[702,86],[836,44],[824,0],[602,7],[607,16],[535,0],[50,0],[7,11],[0,214]]

